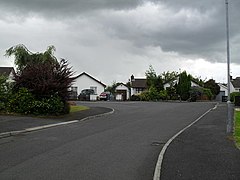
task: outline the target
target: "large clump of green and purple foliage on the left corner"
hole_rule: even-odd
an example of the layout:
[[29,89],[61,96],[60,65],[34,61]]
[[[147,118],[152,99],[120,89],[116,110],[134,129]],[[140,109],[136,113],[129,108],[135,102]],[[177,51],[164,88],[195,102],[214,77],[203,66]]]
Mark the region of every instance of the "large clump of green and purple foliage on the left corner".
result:
[[[37,113],[48,114],[49,112],[54,113],[54,107],[59,107],[57,109],[58,113],[69,112],[67,99],[68,89],[74,81],[72,78],[73,71],[72,67],[68,67],[66,60],[57,61],[57,58],[53,55],[54,51],[54,46],[50,46],[43,53],[32,53],[24,45],[14,46],[6,51],[7,56],[15,56],[15,63],[18,66],[17,73],[14,76],[13,92],[15,92],[15,95],[13,97],[20,100],[24,97],[30,97],[28,98],[29,101],[34,101],[28,103],[29,109],[20,106],[14,108],[14,103],[17,102],[10,101],[13,102],[9,105],[11,110],[16,109],[20,113],[31,113],[35,112],[32,110],[33,107],[38,107],[35,108],[39,110]],[[44,112],[48,110],[49,112]]]

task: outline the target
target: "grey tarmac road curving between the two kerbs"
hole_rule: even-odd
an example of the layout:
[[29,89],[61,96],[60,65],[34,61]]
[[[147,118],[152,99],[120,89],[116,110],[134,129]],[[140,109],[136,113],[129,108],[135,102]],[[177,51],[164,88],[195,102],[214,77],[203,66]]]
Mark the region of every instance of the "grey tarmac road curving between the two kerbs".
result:
[[95,102],[114,114],[0,140],[0,179],[150,180],[164,143],[214,103]]

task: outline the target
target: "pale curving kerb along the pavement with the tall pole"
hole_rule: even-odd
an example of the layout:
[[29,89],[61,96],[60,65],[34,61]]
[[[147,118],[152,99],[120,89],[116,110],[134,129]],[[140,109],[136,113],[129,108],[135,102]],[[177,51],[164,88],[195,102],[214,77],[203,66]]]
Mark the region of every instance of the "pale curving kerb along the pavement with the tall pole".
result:
[[180,130],[178,133],[176,133],[173,137],[171,137],[167,143],[163,146],[159,156],[158,156],[158,160],[155,166],[155,171],[154,171],[154,176],[153,176],[153,180],[160,180],[161,178],[161,169],[162,169],[162,162],[163,162],[163,158],[164,158],[164,154],[168,148],[168,146],[171,144],[171,142],[178,137],[180,134],[182,134],[185,130],[187,130],[188,128],[190,128],[191,126],[193,126],[195,123],[197,123],[200,119],[202,119],[205,115],[207,115],[210,111],[214,110],[217,108],[217,106],[219,105],[219,103],[217,103],[213,108],[210,108],[209,110],[207,110],[205,113],[203,113],[200,117],[198,117],[195,121],[193,121],[192,123],[190,123],[189,125],[187,125],[185,128],[183,128],[182,130]]

